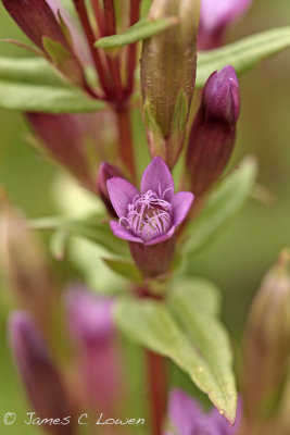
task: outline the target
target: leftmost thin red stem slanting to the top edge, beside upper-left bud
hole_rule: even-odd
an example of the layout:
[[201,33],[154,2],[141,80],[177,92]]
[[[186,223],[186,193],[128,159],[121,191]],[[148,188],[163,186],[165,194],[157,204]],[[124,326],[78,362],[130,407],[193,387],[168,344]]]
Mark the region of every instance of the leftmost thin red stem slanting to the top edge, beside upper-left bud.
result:
[[100,84],[101,84],[104,92],[106,94],[106,96],[110,96],[111,91],[110,91],[110,86],[108,83],[108,75],[104,71],[99,51],[98,51],[98,49],[96,49],[93,47],[96,38],[94,38],[93,32],[92,32],[92,28],[91,28],[91,25],[89,22],[85,0],[74,0],[74,4],[75,4],[80,23],[83,25],[83,28],[84,28],[86,37],[87,37],[87,41],[88,41],[88,46],[89,46],[89,49],[90,49],[90,52],[91,52],[91,55],[93,59],[93,63],[94,63],[96,70],[99,75]]

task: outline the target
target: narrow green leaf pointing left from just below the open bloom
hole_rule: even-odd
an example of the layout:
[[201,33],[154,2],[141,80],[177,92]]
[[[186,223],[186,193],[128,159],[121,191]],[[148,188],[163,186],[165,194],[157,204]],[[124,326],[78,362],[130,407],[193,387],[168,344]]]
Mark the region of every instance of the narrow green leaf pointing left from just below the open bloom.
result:
[[64,232],[70,236],[84,237],[110,253],[128,257],[127,244],[113,235],[103,217],[98,214],[78,220],[64,216],[43,217],[30,221],[29,228]]

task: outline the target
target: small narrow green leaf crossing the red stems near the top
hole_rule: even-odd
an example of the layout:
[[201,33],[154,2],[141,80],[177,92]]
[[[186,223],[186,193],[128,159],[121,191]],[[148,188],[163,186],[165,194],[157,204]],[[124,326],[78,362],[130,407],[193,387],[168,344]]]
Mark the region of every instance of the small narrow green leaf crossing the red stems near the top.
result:
[[150,18],[143,18],[136,23],[134,26],[129,27],[123,34],[105,36],[99,39],[94,46],[98,48],[115,49],[117,47],[123,47],[128,44],[138,42],[142,39],[150,38],[166,28],[169,28],[178,23],[176,16],[167,16],[166,18],[152,21]]

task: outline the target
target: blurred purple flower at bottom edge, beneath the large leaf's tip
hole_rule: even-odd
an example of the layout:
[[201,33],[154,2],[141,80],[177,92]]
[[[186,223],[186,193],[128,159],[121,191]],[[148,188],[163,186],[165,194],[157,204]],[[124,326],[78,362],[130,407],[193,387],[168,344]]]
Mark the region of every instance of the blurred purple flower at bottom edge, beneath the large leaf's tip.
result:
[[238,406],[235,427],[214,408],[205,413],[190,395],[173,389],[169,395],[168,419],[171,432],[164,435],[234,435],[241,420],[241,403]]

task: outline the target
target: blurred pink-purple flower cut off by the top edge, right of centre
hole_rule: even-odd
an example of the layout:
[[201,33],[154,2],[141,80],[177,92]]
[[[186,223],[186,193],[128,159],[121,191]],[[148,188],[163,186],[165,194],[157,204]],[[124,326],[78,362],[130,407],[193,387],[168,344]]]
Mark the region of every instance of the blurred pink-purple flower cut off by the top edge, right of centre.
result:
[[247,11],[252,1],[202,0],[199,49],[209,50],[220,46],[226,29]]

